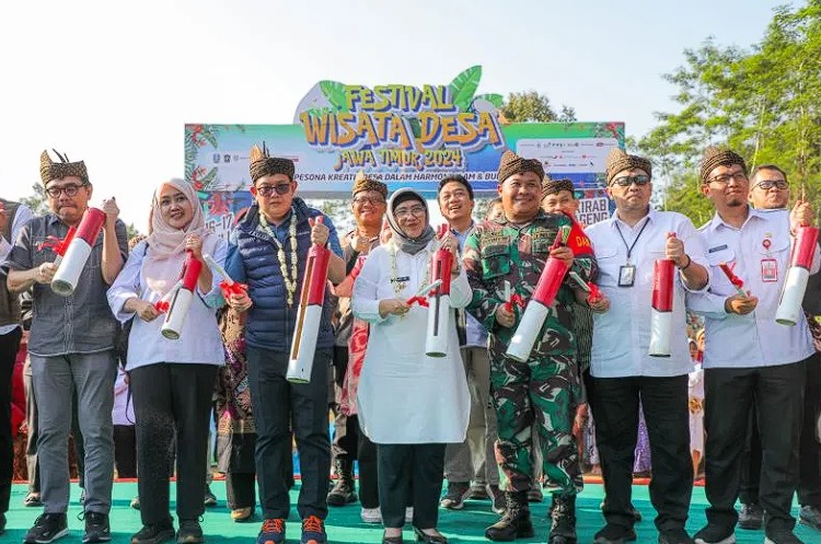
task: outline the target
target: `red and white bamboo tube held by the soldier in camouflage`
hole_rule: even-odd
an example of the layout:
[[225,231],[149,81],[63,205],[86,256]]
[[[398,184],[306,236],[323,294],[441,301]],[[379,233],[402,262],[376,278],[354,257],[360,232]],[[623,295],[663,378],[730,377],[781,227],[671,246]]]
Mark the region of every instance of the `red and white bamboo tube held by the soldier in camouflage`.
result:
[[[552,248],[564,244],[565,235],[566,232],[559,230]],[[519,326],[516,327],[513,337],[510,338],[510,344],[505,352],[506,356],[522,362],[530,359],[533,344],[535,344],[536,337],[542,334],[542,325],[544,325],[544,320],[550,313],[551,305],[556,300],[556,294],[562,287],[567,270],[568,266],[563,261],[547,257],[542,275],[539,277],[536,289],[524,308],[524,314],[519,322]]]

